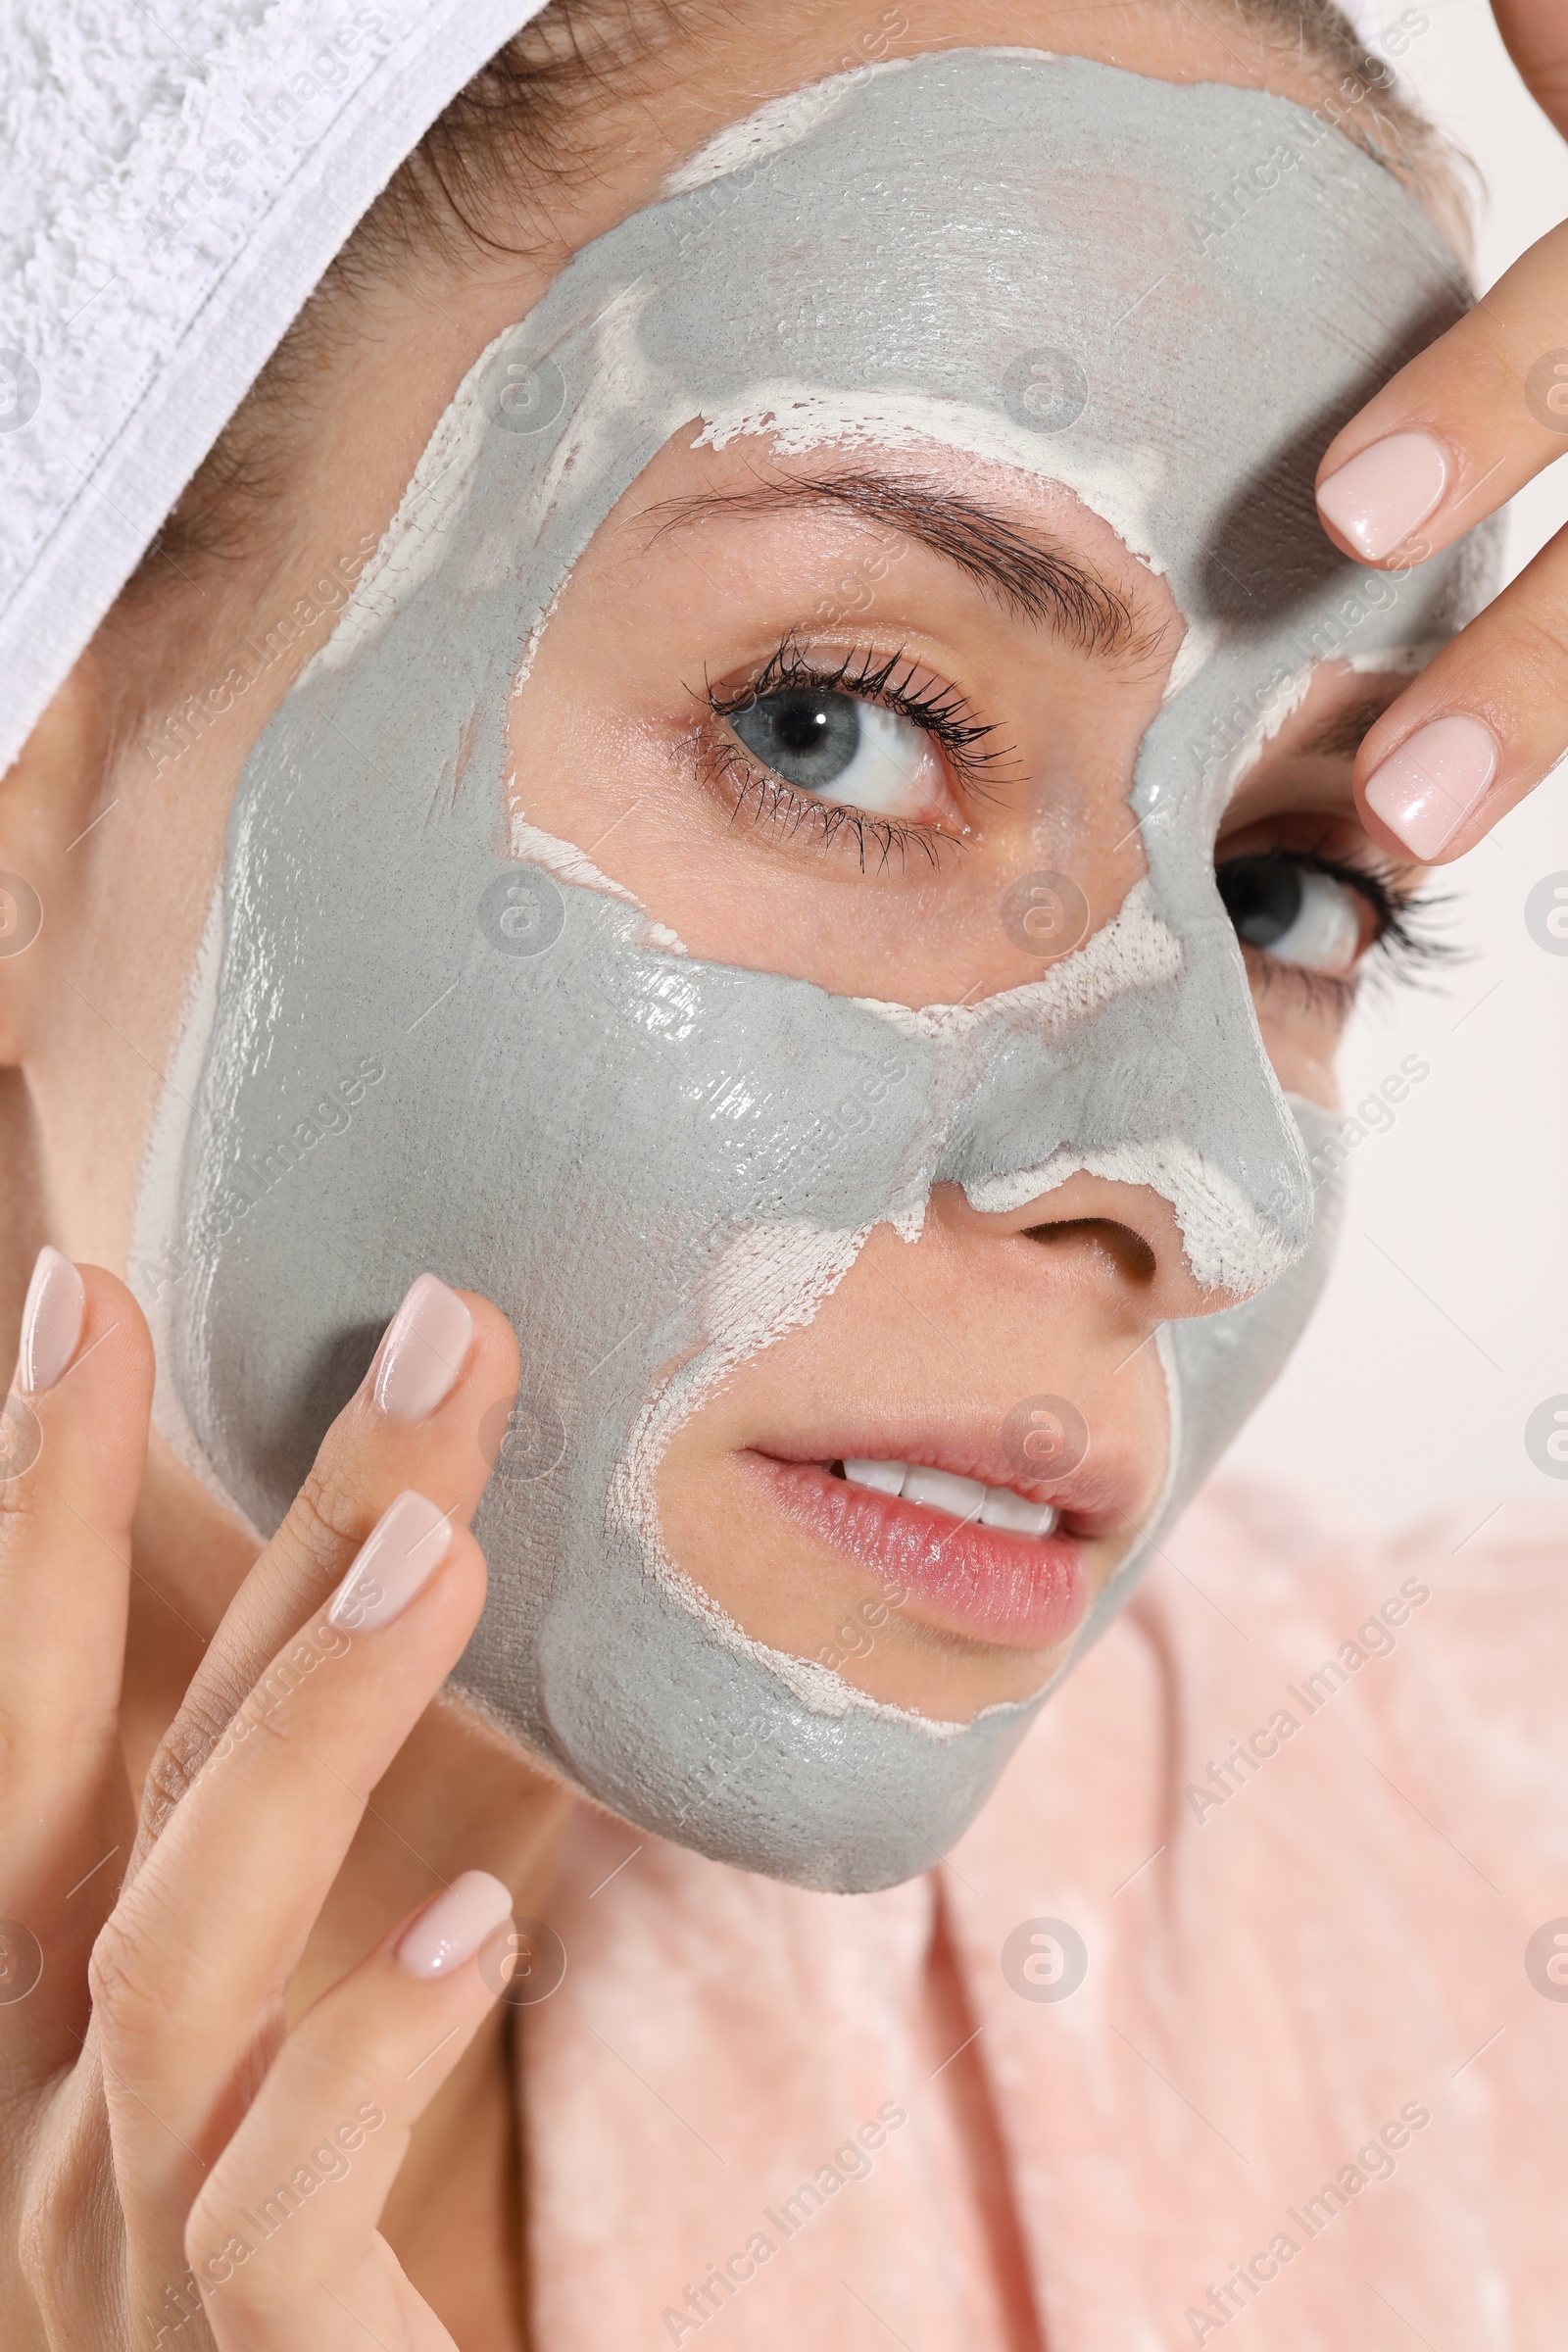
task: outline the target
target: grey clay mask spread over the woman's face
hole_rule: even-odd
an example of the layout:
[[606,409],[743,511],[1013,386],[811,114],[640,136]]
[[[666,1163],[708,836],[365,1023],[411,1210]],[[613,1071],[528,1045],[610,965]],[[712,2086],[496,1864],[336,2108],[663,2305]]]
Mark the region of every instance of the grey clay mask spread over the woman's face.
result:
[[[1237,174],[1267,195],[1220,233]],[[1312,510],[1335,426],[1462,306],[1418,205],[1281,99],[1020,52],[846,75],[726,132],[491,346],[256,743],[136,1235],[188,1268],[146,1287],[160,1421],[273,1529],[407,1282],[496,1298],[524,1399],[456,1679],[628,1820],[884,1886],[1039,1705],[882,1705],[663,1548],[672,1432],[879,1221],[912,1235],[938,1181],[1004,1209],[1088,1169],[1171,1200],[1199,1282],[1253,1294],[1161,1331],[1171,1475],[1072,1656],[1295,1341],[1314,1112],[1265,1061],[1213,837],[1314,661],[1392,668],[1472,600],[1458,553],[1359,574]],[[1147,880],[1039,983],[907,1011],[705,964],[508,814],[531,640],[691,419],[980,454],[1164,572],[1187,637],[1131,795]]]

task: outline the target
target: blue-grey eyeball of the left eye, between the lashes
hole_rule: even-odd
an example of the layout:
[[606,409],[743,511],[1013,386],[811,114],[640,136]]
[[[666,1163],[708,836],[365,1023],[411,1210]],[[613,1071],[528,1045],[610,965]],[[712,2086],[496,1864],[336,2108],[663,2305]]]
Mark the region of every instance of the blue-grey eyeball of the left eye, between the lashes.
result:
[[729,724],[797,793],[903,818],[926,816],[947,797],[931,736],[858,694],[778,687],[731,710]]

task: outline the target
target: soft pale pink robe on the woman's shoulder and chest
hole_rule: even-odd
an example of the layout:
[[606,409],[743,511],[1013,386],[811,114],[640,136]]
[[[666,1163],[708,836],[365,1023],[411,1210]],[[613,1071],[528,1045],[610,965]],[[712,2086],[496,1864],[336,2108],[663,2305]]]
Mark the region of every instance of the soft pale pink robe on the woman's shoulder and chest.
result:
[[891,1893],[583,1806],[538,2352],[1559,2352],[1568,1515],[1483,1510],[1211,1486]]

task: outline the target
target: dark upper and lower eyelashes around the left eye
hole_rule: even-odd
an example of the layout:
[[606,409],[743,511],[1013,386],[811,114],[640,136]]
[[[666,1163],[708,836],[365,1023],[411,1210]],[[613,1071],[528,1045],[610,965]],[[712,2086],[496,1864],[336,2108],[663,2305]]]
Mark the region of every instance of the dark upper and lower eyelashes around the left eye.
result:
[[[940,743],[950,767],[969,793],[985,797],[985,769],[1006,757],[1001,746],[987,746],[987,736],[997,729],[976,717],[957,687],[917,689],[912,684],[917,675],[919,663],[910,661],[903,649],[896,654],[875,654],[856,647],[837,666],[823,666],[790,635],[738,691],[722,694],[703,680],[701,701],[715,720],[724,722],[738,710],[750,710],[766,694],[783,694],[788,687],[813,687],[818,694],[853,694],[856,701],[879,703],[884,710],[898,713],[898,717],[910,720],[912,727],[929,734],[933,743]],[[757,767],[733,734],[710,739],[705,743],[705,760],[710,781],[729,786],[733,795],[731,821],[752,802],[755,823],[773,823],[790,837],[802,826],[813,828],[823,849],[830,849],[839,835],[846,835],[858,849],[863,873],[867,844],[875,844],[879,851],[877,863],[882,868],[893,856],[903,863],[907,849],[919,849],[936,866],[943,844],[964,847],[961,835],[945,833],[940,826],[905,826],[896,818],[867,816],[846,802],[827,802],[816,800],[811,793],[797,793],[783,776]]]

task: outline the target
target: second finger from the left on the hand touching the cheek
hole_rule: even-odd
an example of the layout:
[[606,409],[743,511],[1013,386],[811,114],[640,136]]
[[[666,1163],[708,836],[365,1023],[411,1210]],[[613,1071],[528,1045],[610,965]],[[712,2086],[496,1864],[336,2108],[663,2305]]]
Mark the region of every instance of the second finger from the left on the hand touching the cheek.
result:
[[463,1524],[489,1479],[482,1430],[517,1390],[517,1338],[477,1291],[421,1275],[360,1388],[327,1430],[310,1477],[240,1585],[148,1771],[136,1863],[273,1653],[346,1573],[404,1486]]

